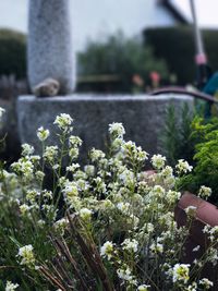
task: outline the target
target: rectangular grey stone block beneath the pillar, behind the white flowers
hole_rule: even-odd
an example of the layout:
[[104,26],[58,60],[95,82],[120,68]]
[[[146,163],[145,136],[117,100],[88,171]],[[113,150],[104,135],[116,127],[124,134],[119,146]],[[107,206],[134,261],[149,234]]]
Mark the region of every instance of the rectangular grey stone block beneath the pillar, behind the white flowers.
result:
[[36,131],[39,126],[50,130],[49,144],[56,144],[53,120],[59,113],[74,119],[74,134],[83,140],[82,156],[92,147],[104,149],[107,144],[108,124],[122,122],[125,141],[132,140],[150,154],[157,153],[158,136],[165,126],[166,109],[170,105],[180,117],[182,106],[193,107],[187,96],[101,96],[72,95],[36,98],[21,96],[17,100],[19,131],[22,143],[29,143],[39,150]]

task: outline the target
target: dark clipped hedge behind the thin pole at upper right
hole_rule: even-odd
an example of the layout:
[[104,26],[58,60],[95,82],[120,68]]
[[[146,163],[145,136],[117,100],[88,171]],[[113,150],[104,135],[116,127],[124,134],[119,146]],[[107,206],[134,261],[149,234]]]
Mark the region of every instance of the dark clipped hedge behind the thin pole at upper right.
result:
[[[167,61],[178,83],[193,83],[196,75],[195,45],[192,27],[149,28],[144,32],[145,44],[154,48],[155,56]],[[203,31],[205,50],[214,71],[218,69],[218,31]]]

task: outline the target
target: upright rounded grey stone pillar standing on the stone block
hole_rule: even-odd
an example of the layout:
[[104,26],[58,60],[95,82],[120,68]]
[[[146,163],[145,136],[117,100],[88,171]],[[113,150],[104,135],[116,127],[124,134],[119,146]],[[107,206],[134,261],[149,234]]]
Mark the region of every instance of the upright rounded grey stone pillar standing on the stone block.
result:
[[45,78],[60,82],[60,94],[75,87],[70,0],[29,0],[28,80],[32,89]]

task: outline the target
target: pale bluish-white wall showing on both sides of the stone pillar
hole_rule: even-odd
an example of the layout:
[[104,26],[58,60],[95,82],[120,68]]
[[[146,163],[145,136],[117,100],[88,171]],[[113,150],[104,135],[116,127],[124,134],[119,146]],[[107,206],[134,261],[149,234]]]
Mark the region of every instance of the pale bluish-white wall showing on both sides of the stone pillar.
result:
[[[156,0],[71,0],[76,49],[122,29],[126,36],[174,21]],[[27,0],[0,0],[0,26],[27,32]]]

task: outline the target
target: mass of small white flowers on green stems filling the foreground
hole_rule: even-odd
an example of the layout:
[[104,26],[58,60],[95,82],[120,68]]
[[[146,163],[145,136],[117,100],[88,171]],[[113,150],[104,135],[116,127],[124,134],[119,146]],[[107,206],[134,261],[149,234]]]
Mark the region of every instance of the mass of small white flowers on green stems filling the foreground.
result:
[[[55,124],[60,145],[48,146],[40,128],[41,156],[24,144],[11,171],[0,171],[1,290],[208,290],[213,282],[199,271],[217,264],[216,240],[193,266],[182,264],[195,209],[186,210],[186,227],[174,222],[177,182],[192,167],[180,159],[173,170],[154,155],[156,172],[146,174],[148,154],[112,123],[108,153],[93,148],[82,168],[72,118],[62,113]],[[216,237],[217,229],[206,231]]]

